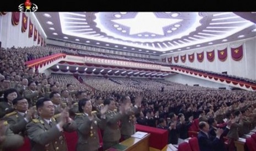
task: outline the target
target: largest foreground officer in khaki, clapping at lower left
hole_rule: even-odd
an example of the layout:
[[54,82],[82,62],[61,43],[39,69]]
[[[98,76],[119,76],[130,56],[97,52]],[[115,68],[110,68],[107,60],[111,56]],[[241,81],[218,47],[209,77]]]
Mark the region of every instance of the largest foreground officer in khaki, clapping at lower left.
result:
[[32,151],[66,151],[67,145],[63,130],[72,132],[77,129],[77,124],[69,118],[67,109],[64,109],[59,117],[59,122],[53,118],[55,108],[49,98],[43,97],[36,102],[36,109],[39,114],[27,126],[28,136],[31,142]]

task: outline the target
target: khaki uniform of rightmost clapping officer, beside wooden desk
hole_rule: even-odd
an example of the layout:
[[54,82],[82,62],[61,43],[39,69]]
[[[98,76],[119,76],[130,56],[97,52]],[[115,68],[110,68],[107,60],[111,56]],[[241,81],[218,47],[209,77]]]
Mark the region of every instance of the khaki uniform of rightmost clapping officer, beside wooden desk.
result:
[[134,118],[135,114],[139,112],[137,107],[132,107],[128,114],[124,115],[121,119],[121,134],[126,140],[135,133]]

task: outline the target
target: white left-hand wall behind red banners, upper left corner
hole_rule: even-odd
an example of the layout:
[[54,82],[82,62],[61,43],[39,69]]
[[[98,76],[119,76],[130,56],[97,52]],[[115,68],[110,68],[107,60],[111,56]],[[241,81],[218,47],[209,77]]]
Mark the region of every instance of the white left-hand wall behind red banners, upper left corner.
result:
[[[12,25],[12,12],[8,12],[6,15],[0,15],[0,18],[2,18],[2,22],[0,22],[0,41],[2,42],[2,48],[12,48],[13,46],[15,48],[23,48],[41,45],[41,42],[37,44],[38,36],[34,41],[34,27],[36,27],[37,33],[40,33],[43,40],[46,39],[46,34],[43,32],[42,27],[35,18],[34,13],[26,13],[26,16],[28,16],[28,28],[25,32],[21,32],[22,14],[23,13],[20,13],[19,24],[16,26]],[[32,37],[29,38],[30,19],[34,27]]]

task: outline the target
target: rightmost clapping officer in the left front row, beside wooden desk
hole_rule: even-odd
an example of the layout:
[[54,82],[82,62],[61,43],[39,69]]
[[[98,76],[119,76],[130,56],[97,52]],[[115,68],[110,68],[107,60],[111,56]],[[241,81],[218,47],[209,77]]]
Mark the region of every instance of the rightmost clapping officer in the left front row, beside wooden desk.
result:
[[132,106],[129,96],[123,96],[121,98],[121,105],[130,107],[128,113],[121,119],[121,135],[124,140],[135,133],[134,118],[135,114],[139,113],[142,98],[142,96],[136,97],[134,107]]

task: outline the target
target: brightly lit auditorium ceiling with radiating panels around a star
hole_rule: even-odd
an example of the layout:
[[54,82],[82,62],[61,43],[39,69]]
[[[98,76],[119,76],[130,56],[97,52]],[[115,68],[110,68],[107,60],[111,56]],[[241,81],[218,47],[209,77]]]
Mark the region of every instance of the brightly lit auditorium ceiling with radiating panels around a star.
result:
[[37,12],[47,39],[162,55],[256,36],[256,12]]

